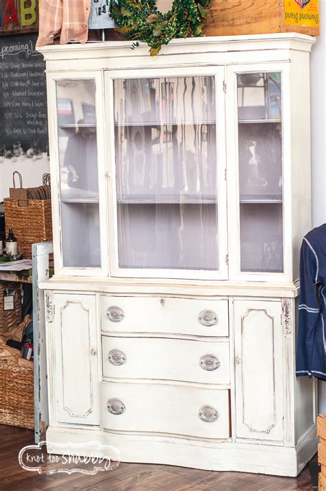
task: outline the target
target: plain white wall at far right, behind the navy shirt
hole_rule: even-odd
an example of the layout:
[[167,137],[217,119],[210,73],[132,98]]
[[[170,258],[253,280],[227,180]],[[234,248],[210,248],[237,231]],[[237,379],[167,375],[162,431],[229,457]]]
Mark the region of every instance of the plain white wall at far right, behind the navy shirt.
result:
[[[320,36],[312,48],[312,225],[326,222],[326,0],[319,0]],[[326,382],[319,382],[319,412],[326,412]]]

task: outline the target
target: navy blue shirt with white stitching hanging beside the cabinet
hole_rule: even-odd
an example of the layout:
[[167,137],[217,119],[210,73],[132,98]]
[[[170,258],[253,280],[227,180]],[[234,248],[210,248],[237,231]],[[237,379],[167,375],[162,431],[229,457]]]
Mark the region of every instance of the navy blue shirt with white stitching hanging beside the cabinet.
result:
[[303,239],[296,376],[326,380],[326,224]]

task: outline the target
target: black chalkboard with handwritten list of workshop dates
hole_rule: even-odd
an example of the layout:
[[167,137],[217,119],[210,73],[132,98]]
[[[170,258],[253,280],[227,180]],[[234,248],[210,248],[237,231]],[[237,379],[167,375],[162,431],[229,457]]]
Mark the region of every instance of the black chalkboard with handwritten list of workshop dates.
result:
[[47,153],[45,63],[36,37],[0,37],[0,160]]

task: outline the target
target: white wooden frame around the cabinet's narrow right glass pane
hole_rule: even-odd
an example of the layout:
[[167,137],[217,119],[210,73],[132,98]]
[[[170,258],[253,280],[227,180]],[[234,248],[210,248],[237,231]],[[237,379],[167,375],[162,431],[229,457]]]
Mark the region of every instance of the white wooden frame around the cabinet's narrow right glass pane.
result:
[[[296,280],[297,276],[292,277],[292,249],[298,248],[301,240],[292,237],[292,211],[293,203],[290,189],[292,187],[291,168],[291,129],[292,120],[290,112],[290,99],[292,100],[292,86],[290,90],[290,66],[291,54],[289,59],[282,63],[259,63],[259,64],[237,64],[226,68],[226,118],[227,118],[227,148],[228,148],[228,191],[232,199],[228,200],[228,214],[232,227],[229,227],[229,258],[230,258],[230,278],[234,280],[249,281],[269,281],[283,282]],[[309,63],[305,59],[301,60],[305,70],[309,72]],[[282,120],[282,152],[283,152],[283,273],[263,273],[263,272],[243,272],[240,264],[240,209],[239,209],[239,147],[238,147],[238,114],[237,114],[237,74],[251,72],[280,72],[281,73],[281,120]],[[303,88],[305,95],[309,95],[309,87]],[[309,104],[307,105],[309,112]],[[231,131],[232,128],[232,131]],[[309,121],[306,131],[309,129]],[[296,145],[299,145],[296,140]],[[302,145],[303,146],[303,145]],[[306,150],[306,143],[304,144]],[[309,143],[308,143],[309,147]],[[305,169],[310,169],[309,158],[305,160]],[[297,169],[297,167],[296,167]],[[286,190],[286,191],[285,191]],[[288,192],[287,192],[288,190]],[[309,195],[309,193],[308,193]],[[236,226],[235,226],[236,225]]]

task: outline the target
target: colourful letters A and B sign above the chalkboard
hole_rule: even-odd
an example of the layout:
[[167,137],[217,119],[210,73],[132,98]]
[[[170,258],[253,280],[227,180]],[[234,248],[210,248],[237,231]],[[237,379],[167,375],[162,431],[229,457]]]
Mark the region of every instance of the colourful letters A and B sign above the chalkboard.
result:
[[39,31],[38,0],[0,0],[0,36]]

